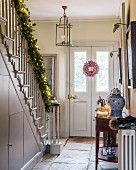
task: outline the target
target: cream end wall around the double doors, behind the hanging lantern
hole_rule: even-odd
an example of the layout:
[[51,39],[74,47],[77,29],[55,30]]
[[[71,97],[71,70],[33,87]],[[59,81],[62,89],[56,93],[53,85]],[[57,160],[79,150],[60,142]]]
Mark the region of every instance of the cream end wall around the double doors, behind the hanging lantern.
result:
[[[72,41],[120,42],[120,30],[113,33],[113,26],[119,20],[71,21]],[[66,103],[66,55],[63,47],[55,46],[56,22],[35,22],[35,38],[38,39],[41,54],[57,54],[57,99],[61,103],[61,135],[64,136],[65,103]]]

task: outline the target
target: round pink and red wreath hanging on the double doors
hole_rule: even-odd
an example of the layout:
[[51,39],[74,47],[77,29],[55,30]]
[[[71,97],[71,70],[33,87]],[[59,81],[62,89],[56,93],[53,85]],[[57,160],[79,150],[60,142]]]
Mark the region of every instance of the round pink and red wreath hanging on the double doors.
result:
[[99,66],[94,61],[87,61],[83,66],[83,73],[87,77],[94,77],[99,71]]

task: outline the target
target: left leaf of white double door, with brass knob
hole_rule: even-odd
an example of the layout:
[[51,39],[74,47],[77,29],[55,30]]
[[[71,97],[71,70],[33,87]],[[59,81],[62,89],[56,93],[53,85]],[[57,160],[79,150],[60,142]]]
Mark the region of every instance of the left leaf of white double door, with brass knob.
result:
[[70,136],[91,136],[91,89],[83,74],[91,48],[72,48],[70,58]]

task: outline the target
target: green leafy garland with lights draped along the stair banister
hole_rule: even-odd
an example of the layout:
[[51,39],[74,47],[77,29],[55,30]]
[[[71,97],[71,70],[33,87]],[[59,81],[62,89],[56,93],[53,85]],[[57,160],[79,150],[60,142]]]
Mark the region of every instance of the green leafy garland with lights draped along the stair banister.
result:
[[28,42],[28,54],[30,56],[29,63],[33,67],[33,72],[35,74],[36,81],[39,84],[42,98],[45,102],[45,107],[48,110],[49,106],[51,105],[51,93],[47,78],[45,77],[43,57],[39,53],[37,39],[35,39],[33,36],[33,26],[35,26],[35,24],[32,24],[30,20],[30,12],[24,4],[24,0],[14,0],[14,4],[21,36],[24,37]]

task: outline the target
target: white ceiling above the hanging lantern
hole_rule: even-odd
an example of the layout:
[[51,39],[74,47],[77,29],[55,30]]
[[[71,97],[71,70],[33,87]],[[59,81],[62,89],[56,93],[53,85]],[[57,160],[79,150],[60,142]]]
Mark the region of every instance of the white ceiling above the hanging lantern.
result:
[[117,19],[121,2],[125,0],[25,0],[32,20],[58,20],[63,16],[62,6],[68,6],[69,19]]

